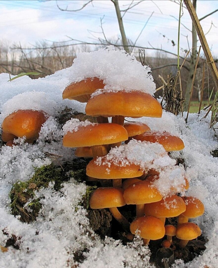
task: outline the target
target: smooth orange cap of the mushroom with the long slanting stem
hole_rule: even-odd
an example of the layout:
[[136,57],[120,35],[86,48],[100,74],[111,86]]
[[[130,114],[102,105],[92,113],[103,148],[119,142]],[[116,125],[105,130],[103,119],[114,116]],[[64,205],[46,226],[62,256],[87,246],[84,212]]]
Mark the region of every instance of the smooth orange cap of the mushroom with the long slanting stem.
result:
[[91,209],[122,207],[125,204],[123,189],[114,187],[100,187],[96,189],[89,200]]

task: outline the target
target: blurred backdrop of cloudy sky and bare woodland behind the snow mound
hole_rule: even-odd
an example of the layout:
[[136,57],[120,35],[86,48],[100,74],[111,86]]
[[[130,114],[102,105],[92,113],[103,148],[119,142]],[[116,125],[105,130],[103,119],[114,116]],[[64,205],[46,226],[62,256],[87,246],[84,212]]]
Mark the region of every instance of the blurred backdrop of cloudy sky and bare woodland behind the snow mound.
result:
[[[128,49],[149,65],[162,95],[163,79],[177,75],[180,0],[1,0],[0,73],[38,72],[40,77],[72,65],[80,52],[114,45],[123,49],[118,19]],[[215,62],[218,57],[218,1],[192,1]],[[119,7],[120,17],[117,6]],[[188,100],[200,42],[184,3],[181,10],[179,56],[182,96]],[[189,54],[186,56],[187,52]],[[208,101],[214,84],[201,49],[193,88],[193,106]],[[204,80],[203,80],[204,73]],[[31,78],[39,76],[30,75]],[[161,77],[162,78],[161,78]],[[202,82],[203,80],[203,82]],[[187,107],[187,101],[185,106]],[[186,108],[185,108],[186,109]]]

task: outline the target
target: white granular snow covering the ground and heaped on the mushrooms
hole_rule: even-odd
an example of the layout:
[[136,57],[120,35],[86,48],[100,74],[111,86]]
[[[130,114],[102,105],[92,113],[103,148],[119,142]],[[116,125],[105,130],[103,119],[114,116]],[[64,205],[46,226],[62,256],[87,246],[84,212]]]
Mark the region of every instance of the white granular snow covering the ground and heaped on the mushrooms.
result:
[[[103,61],[100,55],[101,57],[104,55],[106,60]],[[93,58],[96,61],[88,66],[84,62],[81,63],[81,61],[89,62]],[[126,63],[124,66],[127,67],[123,68],[119,77],[117,68],[120,70],[123,63]],[[124,73],[130,72],[131,68],[128,67],[130,63],[133,63],[134,72],[129,80],[123,81]],[[106,65],[108,75],[104,77]],[[86,210],[79,205],[86,189],[84,183],[77,183],[71,178],[70,181],[63,183],[61,191],[56,192],[52,183],[48,188],[40,189],[37,196],[43,196],[40,200],[42,209],[32,224],[22,223],[19,217],[10,214],[9,198],[12,185],[19,180],[28,180],[34,174],[34,167],[55,162],[55,159],[48,157],[46,152],[59,155],[60,163],[72,159],[74,150],[62,146],[63,130],[55,119],[66,106],[84,112],[84,103],[62,100],[61,94],[69,83],[91,75],[97,76],[99,72],[98,77],[110,84],[111,89],[126,87],[133,90],[131,84],[134,84],[134,89],[145,90],[147,85],[151,84],[153,92],[153,80],[149,75],[147,84],[143,84],[144,78],[137,84],[132,83],[135,77],[146,77],[148,70],[141,68],[133,57],[123,51],[115,51],[109,47],[100,50],[99,54],[98,52],[80,54],[72,67],[37,80],[23,76],[7,82],[9,75],[0,74],[0,123],[5,116],[18,109],[43,110],[50,116],[42,126],[36,144],[24,143],[24,139],[19,139],[17,146],[11,148],[2,145],[0,149],[0,230],[4,230],[4,233],[0,232],[0,245],[5,246],[7,239],[13,234],[17,237],[20,247],[20,250],[8,247],[7,252],[0,250],[2,268],[8,267],[9,263],[11,268],[59,268],[76,265],[82,268],[153,267],[149,264],[149,248],[142,246],[142,241],[138,237],[135,237],[133,242],[123,245],[121,241],[108,237],[102,240],[94,233],[89,226]],[[125,77],[128,77],[126,73]],[[109,86],[106,90],[108,88]],[[137,162],[144,169],[157,168],[161,174],[159,182],[155,181],[155,186],[161,192],[169,191],[170,185],[179,189],[181,183],[184,183],[185,173],[190,181],[190,188],[185,194],[194,196],[204,203],[205,213],[193,219],[193,222],[199,225],[203,235],[208,238],[206,250],[189,263],[184,264],[182,260],[176,260],[173,265],[176,268],[198,268],[205,265],[215,268],[218,262],[218,159],[210,154],[212,150],[218,148],[218,142],[215,131],[209,128],[210,118],[204,118],[204,115],[205,112],[201,112],[200,115],[189,114],[188,124],[184,120],[186,114],[181,118],[168,112],[163,112],[162,118],[137,119],[146,123],[152,130],[167,131],[183,140],[184,150],[172,152],[170,157],[159,144],[134,140],[127,145],[112,149],[108,156],[108,161],[110,157],[122,156],[127,162]],[[133,118],[126,119],[133,121]],[[184,158],[185,171],[181,165],[174,167],[174,159],[178,157]],[[164,179],[167,184],[162,188]],[[84,260],[81,263],[73,260],[76,252],[84,252]]]

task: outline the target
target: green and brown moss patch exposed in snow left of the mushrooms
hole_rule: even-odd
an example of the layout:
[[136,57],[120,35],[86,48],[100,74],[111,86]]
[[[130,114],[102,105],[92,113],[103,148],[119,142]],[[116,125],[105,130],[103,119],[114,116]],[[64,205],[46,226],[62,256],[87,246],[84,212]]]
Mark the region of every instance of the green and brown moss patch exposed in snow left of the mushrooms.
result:
[[11,213],[15,216],[20,215],[22,222],[34,221],[41,209],[40,199],[35,195],[36,191],[47,188],[50,182],[54,184],[55,191],[60,191],[63,182],[72,177],[78,182],[85,181],[86,165],[86,161],[75,159],[72,163],[66,162],[61,167],[51,164],[36,168],[34,175],[28,181],[17,181],[13,185],[9,193]]

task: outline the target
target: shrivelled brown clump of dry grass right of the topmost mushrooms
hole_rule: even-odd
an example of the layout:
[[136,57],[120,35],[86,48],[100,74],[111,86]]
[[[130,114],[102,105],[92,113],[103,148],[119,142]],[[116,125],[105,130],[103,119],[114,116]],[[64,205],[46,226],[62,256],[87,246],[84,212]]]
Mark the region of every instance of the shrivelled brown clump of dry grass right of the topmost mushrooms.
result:
[[175,79],[172,76],[172,73],[170,73],[170,75],[167,76],[167,81],[160,75],[158,77],[164,84],[161,105],[163,109],[177,116],[182,113],[182,105],[185,101],[185,99],[182,98],[181,90],[179,92],[176,86],[179,72],[177,72]]

